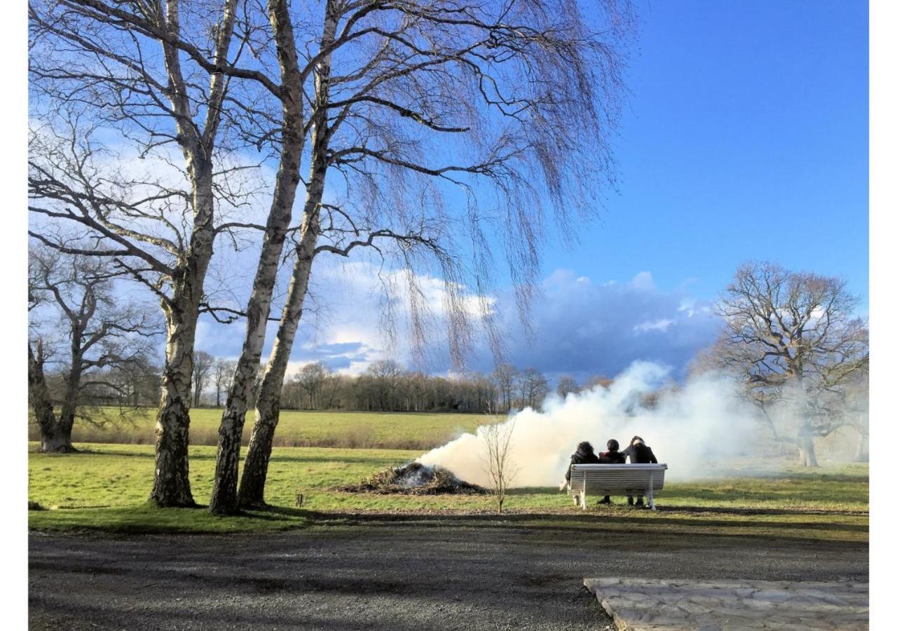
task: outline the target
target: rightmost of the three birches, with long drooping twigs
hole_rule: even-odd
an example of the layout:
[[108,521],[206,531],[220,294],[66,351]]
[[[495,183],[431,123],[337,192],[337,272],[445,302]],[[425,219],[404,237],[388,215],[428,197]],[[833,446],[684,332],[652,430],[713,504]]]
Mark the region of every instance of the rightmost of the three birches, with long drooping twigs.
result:
[[[491,325],[484,225],[492,222],[504,234],[526,314],[538,269],[540,200],[551,200],[562,226],[569,225],[568,210],[594,212],[594,195],[612,177],[607,129],[616,117],[623,58],[614,45],[629,25],[626,13],[615,10],[620,6],[601,4],[608,17],[601,34],[565,2],[329,0],[304,21],[318,44],[306,66],[313,75],[306,201],[286,304],[258,390],[257,432],[243,476],[252,482],[240,502],[262,501],[269,437],[318,254],[373,249],[404,270],[418,355],[429,312],[415,272],[434,269],[445,281],[450,355],[460,362],[470,334],[455,239],[464,236],[472,246],[471,286]],[[323,201],[330,171],[342,176],[338,203]],[[500,216],[477,204],[483,186],[491,189],[490,207],[498,197]],[[457,191],[466,204],[449,208]],[[487,330],[498,351],[495,329]],[[232,465],[222,468],[228,480],[222,506],[232,506],[239,458],[239,442],[228,445],[231,452],[220,456]]]

